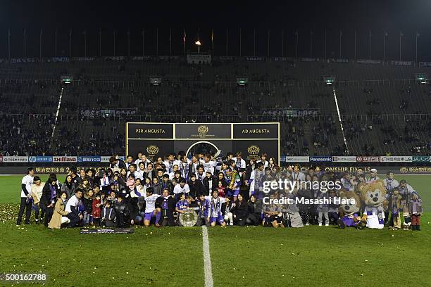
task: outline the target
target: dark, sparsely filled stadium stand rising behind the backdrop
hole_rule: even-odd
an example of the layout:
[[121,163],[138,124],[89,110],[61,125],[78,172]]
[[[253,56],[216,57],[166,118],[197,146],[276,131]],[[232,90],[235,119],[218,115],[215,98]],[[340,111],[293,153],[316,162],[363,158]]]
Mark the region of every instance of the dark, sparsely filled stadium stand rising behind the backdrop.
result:
[[[124,153],[129,121],[276,121],[282,155],[429,155],[431,90],[413,79],[418,72],[427,68],[245,58],[3,63],[0,154]],[[61,75],[74,81],[64,86],[55,122]],[[325,85],[323,75],[335,84]],[[237,77],[248,84],[239,86]]]

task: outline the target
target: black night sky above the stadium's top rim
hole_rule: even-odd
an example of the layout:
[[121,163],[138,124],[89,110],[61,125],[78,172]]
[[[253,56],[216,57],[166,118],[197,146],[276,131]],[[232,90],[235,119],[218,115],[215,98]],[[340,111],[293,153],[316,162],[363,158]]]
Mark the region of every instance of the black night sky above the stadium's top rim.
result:
[[[280,4],[280,2],[285,4]],[[8,30],[11,31],[11,58],[24,56],[24,29],[27,57],[39,57],[42,28],[42,57],[54,56],[57,29],[57,56],[69,56],[72,29],[72,54],[84,56],[87,33],[87,56],[127,56],[127,31],[130,30],[130,54],[183,55],[182,37],[187,35],[187,50],[196,52],[194,39],[199,34],[201,51],[211,49],[214,30],[214,55],[295,56],[298,31],[299,56],[325,56],[325,30],[328,57],[339,58],[340,30],[342,57],[368,58],[371,32],[371,58],[382,59],[387,32],[387,60],[399,60],[400,32],[402,60],[415,60],[416,32],[418,60],[431,60],[431,1],[1,1],[0,58],[8,57]],[[226,51],[227,29],[227,51]],[[313,34],[311,34],[311,31]],[[282,34],[283,33],[283,34]],[[282,37],[283,35],[283,37]],[[282,52],[283,48],[283,52]]]

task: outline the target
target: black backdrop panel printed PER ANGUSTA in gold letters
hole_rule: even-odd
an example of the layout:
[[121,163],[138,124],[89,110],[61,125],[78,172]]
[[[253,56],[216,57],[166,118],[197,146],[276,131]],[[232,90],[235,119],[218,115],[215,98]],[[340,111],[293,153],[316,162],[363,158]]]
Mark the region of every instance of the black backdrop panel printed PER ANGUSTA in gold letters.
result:
[[173,124],[158,122],[127,122],[129,139],[173,139]]

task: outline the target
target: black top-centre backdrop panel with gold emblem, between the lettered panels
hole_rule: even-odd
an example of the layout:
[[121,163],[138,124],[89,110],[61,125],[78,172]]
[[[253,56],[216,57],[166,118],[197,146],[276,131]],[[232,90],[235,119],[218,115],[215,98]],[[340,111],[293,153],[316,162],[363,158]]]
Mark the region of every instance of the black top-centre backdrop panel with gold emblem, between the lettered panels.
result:
[[231,139],[231,124],[175,124],[175,139]]

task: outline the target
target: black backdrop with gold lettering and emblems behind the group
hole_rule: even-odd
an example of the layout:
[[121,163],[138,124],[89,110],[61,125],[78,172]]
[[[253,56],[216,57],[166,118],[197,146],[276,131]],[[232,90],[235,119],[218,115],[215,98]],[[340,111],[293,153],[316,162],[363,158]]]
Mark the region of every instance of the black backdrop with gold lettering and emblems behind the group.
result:
[[149,158],[164,157],[168,153],[241,151],[245,160],[258,158],[262,153],[280,159],[280,123],[151,123],[127,122],[126,153],[142,152]]

